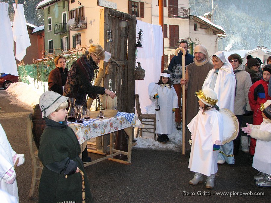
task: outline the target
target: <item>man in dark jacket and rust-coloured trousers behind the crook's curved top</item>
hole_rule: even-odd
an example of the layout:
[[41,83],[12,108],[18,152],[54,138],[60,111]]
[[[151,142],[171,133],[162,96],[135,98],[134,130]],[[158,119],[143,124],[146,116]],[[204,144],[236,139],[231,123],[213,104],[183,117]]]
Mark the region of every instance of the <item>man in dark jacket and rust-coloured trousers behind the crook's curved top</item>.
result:
[[[185,49],[185,67],[193,62],[193,56],[188,53],[188,42],[183,40],[180,42],[180,47]],[[178,50],[180,50],[178,48]],[[180,85],[180,80],[182,78],[182,51],[179,52],[178,55],[175,55],[168,65],[168,70],[170,71],[170,78],[173,82],[173,87],[178,96],[178,105],[181,107],[182,100],[182,86]],[[182,109],[177,108],[175,111],[175,122],[177,130],[181,130],[181,122],[182,122]]]

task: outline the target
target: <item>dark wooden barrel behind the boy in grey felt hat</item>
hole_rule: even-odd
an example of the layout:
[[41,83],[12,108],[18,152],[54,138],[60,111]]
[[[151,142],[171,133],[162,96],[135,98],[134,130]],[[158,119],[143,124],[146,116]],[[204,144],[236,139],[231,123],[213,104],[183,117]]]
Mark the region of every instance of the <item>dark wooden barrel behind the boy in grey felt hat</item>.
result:
[[35,104],[33,106],[32,133],[37,149],[39,149],[39,139],[42,135],[45,126],[46,126],[45,120],[42,120],[42,112],[39,108],[39,104]]

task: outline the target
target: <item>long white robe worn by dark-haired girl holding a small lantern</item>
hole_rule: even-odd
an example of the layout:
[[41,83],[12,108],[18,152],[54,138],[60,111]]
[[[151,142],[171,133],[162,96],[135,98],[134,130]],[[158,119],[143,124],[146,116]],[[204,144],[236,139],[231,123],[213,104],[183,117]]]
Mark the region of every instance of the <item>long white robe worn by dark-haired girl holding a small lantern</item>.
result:
[[[154,99],[154,94],[158,94],[159,98]],[[168,84],[156,84],[149,96],[150,100],[155,103],[155,109],[158,108],[157,103],[160,106],[160,111],[155,111],[155,133],[166,135],[173,133],[175,121],[173,120],[172,109],[178,108],[178,96],[175,89]]]

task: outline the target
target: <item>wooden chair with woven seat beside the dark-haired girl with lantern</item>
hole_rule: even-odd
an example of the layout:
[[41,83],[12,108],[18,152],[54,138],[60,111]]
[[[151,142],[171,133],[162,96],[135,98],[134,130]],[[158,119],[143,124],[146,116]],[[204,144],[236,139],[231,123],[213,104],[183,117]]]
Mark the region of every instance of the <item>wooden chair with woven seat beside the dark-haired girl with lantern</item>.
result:
[[[156,128],[156,115],[155,114],[151,114],[151,113],[141,113],[141,109],[140,109],[140,103],[139,103],[139,95],[135,94],[135,98],[136,98],[136,111],[138,114],[138,118],[141,121],[141,123],[143,125],[151,125],[153,126],[152,128],[139,128],[139,130],[136,133],[136,138],[138,137],[138,134],[140,132],[140,137],[142,137],[142,132],[147,132],[147,133],[153,133],[154,136],[154,140],[156,141],[156,134],[155,134],[155,128]],[[143,119],[148,119],[148,121]],[[153,124],[150,124],[153,123]],[[147,131],[149,129],[152,129],[153,131]]]

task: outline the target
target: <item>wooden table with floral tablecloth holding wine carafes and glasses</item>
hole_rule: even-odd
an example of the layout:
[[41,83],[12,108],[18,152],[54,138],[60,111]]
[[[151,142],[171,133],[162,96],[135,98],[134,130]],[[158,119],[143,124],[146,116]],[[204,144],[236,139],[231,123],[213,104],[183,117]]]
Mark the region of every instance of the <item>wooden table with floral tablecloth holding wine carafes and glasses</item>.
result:
[[[134,116],[131,123],[129,123],[124,116],[115,116],[111,118],[104,117],[103,119],[90,118],[89,121],[84,120],[83,123],[68,122],[68,126],[70,126],[70,128],[72,128],[75,132],[82,150],[86,147],[88,140],[110,133],[110,155],[84,164],[84,167],[86,167],[105,159],[110,159],[112,161],[117,161],[128,165],[131,164],[133,128],[142,128],[142,123],[136,116]],[[128,135],[128,152],[116,150],[113,146],[113,133],[122,129],[124,129]],[[127,161],[113,158],[118,154],[127,155]]]

